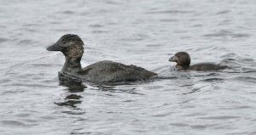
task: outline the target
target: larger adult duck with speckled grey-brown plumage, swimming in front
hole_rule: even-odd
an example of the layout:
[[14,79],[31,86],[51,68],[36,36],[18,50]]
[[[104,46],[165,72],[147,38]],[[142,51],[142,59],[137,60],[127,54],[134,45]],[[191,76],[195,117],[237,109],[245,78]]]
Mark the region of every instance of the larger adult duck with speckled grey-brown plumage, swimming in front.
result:
[[60,81],[136,82],[147,81],[157,75],[136,65],[124,65],[110,60],[98,61],[82,68],[80,61],[84,53],[84,42],[75,34],[63,35],[47,50],[60,51],[65,56],[65,64],[58,74]]

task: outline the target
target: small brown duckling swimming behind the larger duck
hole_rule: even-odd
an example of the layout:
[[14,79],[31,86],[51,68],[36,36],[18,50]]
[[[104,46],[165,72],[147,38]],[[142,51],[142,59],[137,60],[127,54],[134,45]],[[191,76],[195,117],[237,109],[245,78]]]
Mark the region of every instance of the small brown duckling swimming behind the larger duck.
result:
[[228,65],[216,65],[209,62],[203,62],[195,65],[190,65],[190,56],[187,52],[175,53],[170,59],[170,62],[176,62],[177,70],[197,70],[197,71],[210,71],[210,70],[224,70],[230,68]]

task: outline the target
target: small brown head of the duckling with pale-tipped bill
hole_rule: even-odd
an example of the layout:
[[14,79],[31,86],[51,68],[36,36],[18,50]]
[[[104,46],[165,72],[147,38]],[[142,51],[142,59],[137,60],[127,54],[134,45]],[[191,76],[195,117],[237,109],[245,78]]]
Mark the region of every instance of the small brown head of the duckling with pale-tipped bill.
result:
[[190,65],[190,57],[189,53],[186,52],[178,52],[174,56],[172,56],[169,61],[176,62],[176,68],[178,70],[188,70]]

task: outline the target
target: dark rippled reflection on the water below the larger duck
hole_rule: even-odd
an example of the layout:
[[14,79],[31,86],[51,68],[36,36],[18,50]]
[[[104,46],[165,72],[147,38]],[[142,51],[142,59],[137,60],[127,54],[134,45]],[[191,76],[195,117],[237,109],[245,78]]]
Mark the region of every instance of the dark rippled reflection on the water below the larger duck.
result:
[[69,106],[76,108],[76,104],[82,103],[82,96],[79,93],[84,92],[84,88],[87,88],[82,82],[60,82],[60,86],[67,87],[69,94],[64,98],[64,102],[58,102],[60,106]]

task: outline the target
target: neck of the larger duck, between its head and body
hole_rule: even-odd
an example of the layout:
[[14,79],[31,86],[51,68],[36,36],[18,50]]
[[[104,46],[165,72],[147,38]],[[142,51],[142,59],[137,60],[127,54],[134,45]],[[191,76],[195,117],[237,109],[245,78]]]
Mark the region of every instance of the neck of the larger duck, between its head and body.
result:
[[80,61],[81,57],[73,59],[66,56],[66,61],[61,71],[67,73],[77,73],[82,69]]

